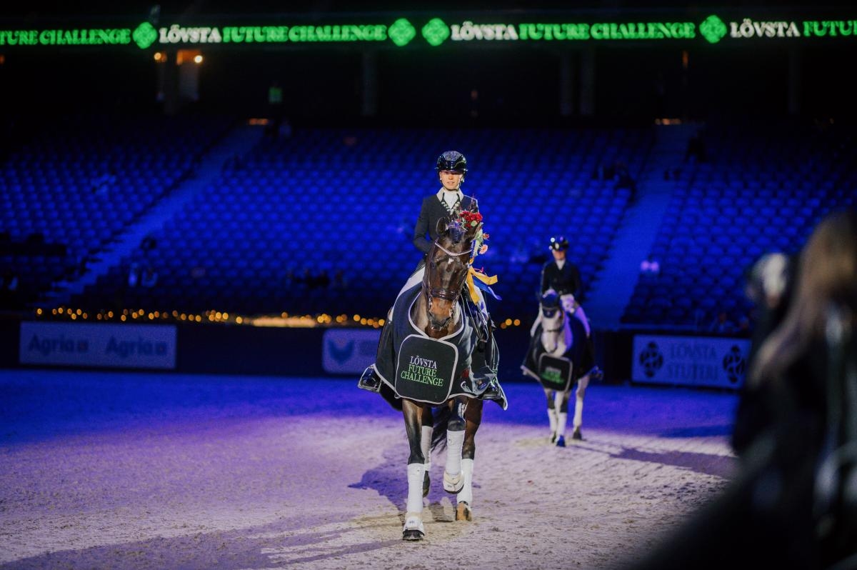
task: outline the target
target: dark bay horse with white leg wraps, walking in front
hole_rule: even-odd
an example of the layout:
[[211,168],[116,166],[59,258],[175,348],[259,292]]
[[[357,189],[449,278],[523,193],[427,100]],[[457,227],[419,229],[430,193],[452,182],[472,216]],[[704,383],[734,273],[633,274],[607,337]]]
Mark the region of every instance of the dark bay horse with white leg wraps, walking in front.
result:
[[[481,220],[481,216],[479,217]],[[471,326],[468,307],[461,299],[467,277],[470,273],[470,261],[474,255],[475,240],[481,231],[482,223],[466,216],[443,221],[439,225],[439,237],[426,257],[422,284],[415,285],[411,291],[417,295],[407,309],[407,323],[410,333],[401,342],[399,334],[398,366],[396,369],[396,391],[400,396],[402,414],[405,418],[405,431],[411,453],[408,458],[408,498],[405,513],[405,526],[402,537],[405,540],[421,540],[425,535],[423,528],[423,497],[428,495],[428,467],[430,466],[433,424],[439,422],[434,444],[439,440],[446,442],[446,465],[443,473],[443,488],[458,495],[456,506],[457,520],[471,520],[473,459],[476,453],[476,430],[482,422],[482,398],[497,399],[504,408],[505,395],[496,382],[496,357],[486,357],[486,352],[495,351],[493,339],[480,339],[476,327]],[[400,296],[401,297],[401,296]],[[397,300],[397,304],[399,300]],[[478,309],[476,309],[478,310]],[[399,323],[405,321],[399,317]],[[400,325],[401,326],[401,325]],[[490,335],[490,327],[488,327]],[[449,357],[413,356],[405,349],[405,343],[416,337],[422,343],[424,354],[433,346],[444,348],[457,343],[454,351],[456,362],[449,363]],[[429,340],[430,339],[430,340]],[[479,348],[481,347],[481,348]],[[446,348],[445,348],[446,350]],[[452,354],[452,352],[447,353]],[[403,355],[409,358],[403,363]],[[488,367],[486,367],[486,363]],[[480,370],[490,369],[494,365],[494,375],[480,375]],[[440,397],[406,395],[403,387],[409,380],[436,384],[440,386],[438,368],[449,365],[452,370],[448,389],[441,391]],[[433,368],[434,367],[434,368]],[[405,369],[406,368],[406,369]],[[411,370],[420,371],[418,374]],[[492,391],[493,396],[492,397]],[[409,392],[410,393],[410,392]],[[440,405],[437,418],[432,413],[433,405]],[[441,419],[442,418],[442,419]]]

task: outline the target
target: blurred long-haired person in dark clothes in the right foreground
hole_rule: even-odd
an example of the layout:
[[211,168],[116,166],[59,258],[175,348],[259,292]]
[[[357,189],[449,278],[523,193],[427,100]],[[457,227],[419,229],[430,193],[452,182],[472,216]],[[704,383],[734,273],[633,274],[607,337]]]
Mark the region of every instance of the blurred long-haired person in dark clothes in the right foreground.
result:
[[853,210],[813,231],[791,291],[753,352],[733,440],[737,475],[643,560],[621,567],[857,567]]

